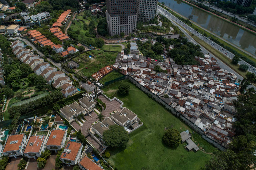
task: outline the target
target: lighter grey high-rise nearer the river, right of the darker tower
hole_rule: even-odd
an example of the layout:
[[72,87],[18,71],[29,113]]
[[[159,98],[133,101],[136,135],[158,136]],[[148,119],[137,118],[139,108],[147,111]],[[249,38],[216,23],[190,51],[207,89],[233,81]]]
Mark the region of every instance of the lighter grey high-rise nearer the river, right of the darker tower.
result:
[[157,0],[137,0],[136,13],[138,21],[147,22],[155,17]]

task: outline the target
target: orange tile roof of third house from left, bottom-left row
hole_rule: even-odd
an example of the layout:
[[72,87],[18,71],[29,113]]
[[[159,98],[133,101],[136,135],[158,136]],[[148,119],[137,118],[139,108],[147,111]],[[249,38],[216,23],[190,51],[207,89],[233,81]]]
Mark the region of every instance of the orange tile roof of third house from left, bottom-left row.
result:
[[57,129],[52,130],[46,145],[60,146],[61,142],[63,140],[63,137],[66,137],[66,136],[64,136],[65,131],[66,130],[63,130],[63,129],[62,130],[57,130]]

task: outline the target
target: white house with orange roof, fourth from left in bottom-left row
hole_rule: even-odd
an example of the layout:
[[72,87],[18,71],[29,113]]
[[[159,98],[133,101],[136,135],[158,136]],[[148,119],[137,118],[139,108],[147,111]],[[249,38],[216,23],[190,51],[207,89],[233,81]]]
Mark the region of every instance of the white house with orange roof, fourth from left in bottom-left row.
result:
[[76,165],[81,157],[82,147],[82,143],[68,141],[60,155],[61,162],[67,165]]

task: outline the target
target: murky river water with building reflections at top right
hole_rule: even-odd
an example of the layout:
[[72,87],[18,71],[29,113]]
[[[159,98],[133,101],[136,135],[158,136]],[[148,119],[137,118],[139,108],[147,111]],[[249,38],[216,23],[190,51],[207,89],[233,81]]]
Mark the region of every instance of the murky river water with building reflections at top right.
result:
[[179,0],[159,0],[164,2],[170,9],[188,17],[193,15],[192,21],[223,39],[239,46],[240,48],[256,54],[256,36],[238,26],[230,24],[202,10],[192,7]]

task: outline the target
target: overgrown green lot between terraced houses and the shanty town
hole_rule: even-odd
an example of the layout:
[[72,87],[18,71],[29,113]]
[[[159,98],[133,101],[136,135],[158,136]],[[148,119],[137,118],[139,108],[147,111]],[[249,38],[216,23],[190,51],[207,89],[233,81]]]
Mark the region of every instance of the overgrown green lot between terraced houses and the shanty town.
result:
[[[114,64],[117,54],[117,52],[104,52],[102,50],[91,50],[88,51],[88,53],[80,54],[79,57],[92,55],[93,59],[89,59],[87,61],[80,60],[80,62],[83,62],[83,67],[79,67],[81,70],[78,73],[90,77],[93,73],[99,71],[101,68]],[[76,61],[76,59],[74,59],[74,61]]]

